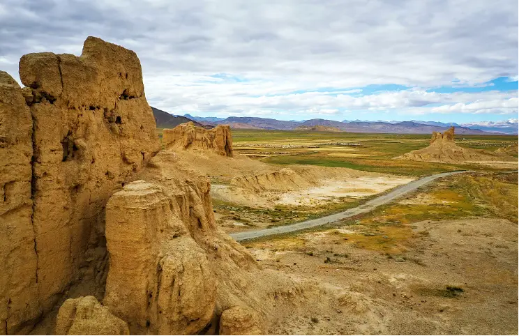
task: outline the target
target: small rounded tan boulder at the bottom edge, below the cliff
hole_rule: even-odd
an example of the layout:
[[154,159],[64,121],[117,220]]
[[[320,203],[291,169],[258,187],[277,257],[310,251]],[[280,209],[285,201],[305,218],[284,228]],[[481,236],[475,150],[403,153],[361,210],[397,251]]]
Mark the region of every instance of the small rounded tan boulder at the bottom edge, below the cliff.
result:
[[93,296],[69,298],[59,308],[56,336],[130,336],[126,322]]

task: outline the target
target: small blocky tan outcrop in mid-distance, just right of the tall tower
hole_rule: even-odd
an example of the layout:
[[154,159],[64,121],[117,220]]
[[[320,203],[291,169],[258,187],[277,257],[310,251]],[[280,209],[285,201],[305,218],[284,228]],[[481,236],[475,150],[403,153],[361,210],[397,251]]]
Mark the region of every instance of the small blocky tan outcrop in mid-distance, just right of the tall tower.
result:
[[202,149],[232,156],[231,128],[228,125],[218,125],[206,130],[191,122],[183,123],[176,128],[164,130],[163,143],[166,148]]

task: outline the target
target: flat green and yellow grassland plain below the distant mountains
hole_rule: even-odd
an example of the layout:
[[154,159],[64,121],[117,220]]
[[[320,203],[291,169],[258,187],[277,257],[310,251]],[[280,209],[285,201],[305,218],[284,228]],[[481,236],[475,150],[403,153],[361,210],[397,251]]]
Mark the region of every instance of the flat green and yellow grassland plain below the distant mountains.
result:
[[[476,165],[393,160],[399,155],[428,146],[430,135],[241,129],[232,132],[237,151],[276,165],[346,167],[409,176],[426,176],[460,169],[482,170]],[[460,135],[456,140],[460,146],[495,151],[517,141],[517,137]],[[338,146],[335,143],[360,143],[361,146]],[[492,170],[488,167],[484,169]]]

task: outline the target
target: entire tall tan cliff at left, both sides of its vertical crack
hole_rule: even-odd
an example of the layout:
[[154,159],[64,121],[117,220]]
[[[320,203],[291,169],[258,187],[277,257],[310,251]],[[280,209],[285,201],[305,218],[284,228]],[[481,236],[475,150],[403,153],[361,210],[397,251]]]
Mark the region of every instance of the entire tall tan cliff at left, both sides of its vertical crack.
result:
[[22,56],[24,89],[0,78],[0,323],[11,335],[78,280],[103,295],[105,204],[160,145],[128,49],[89,37],[80,57]]

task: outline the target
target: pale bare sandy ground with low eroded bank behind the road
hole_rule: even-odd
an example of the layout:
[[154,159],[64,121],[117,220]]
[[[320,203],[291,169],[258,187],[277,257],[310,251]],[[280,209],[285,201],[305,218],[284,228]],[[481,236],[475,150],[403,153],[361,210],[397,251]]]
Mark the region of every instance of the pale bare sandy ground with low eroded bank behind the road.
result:
[[[347,151],[354,148],[341,148]],[[412,178],[377,174],[347,168],[292,165],[290,170],[299,174],[293,183],[272,178],[263,181],[257,190],[251,185],[233,185],[236,176],[253,176],[280,171],[283,167],[268,165],[235,153],[227,158],[204,151],[174,153],[175,164],[211,178],[211,196],[241,206],[271,208],[285,206],[320,206],[343,197],[366,197],[398,185],[409,183]],[[287,176],[292,177],[292,176]],[[269,180],[264,178],[264,180]]]

